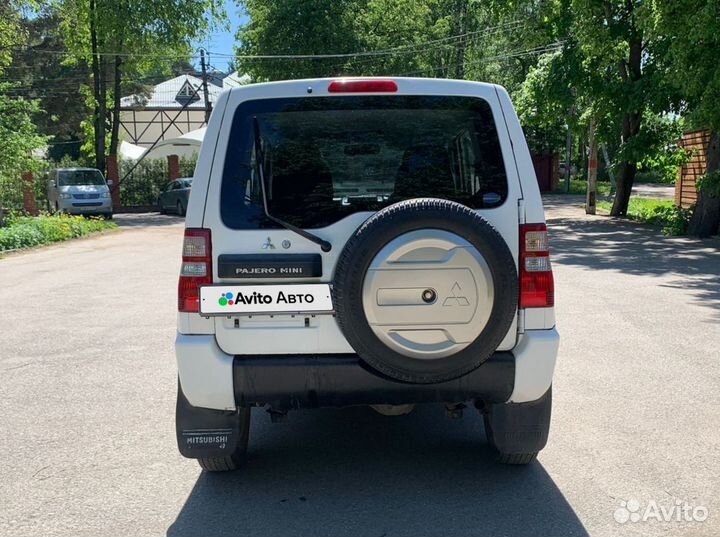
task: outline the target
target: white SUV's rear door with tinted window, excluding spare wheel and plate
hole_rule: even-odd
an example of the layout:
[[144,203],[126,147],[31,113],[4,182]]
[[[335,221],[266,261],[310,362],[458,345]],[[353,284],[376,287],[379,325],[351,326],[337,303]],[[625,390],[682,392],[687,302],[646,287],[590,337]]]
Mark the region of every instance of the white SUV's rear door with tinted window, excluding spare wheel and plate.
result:
[[[257,84],[230,93],[202,220],[212,232],[216,284],[331,283],[345,242],[363,221],[420,196],[455,197],[476,208],[502,234],[517,263],[522,192],[494,87],[395,81],[391,94],[333,95],[330,80]],[[254,118],[266,154],[271,213],[329,241],[329,252],[263,216]],[[430,158],[449,168],[437,190],[401,184],[403,169]],[[195,190],[201,181],[196,177]],[[283,353],[289,345],[299,353],[352,352],[331,315],[212,322],[219,345],[232,354]],[[500,349],[514,346],[516,331],[514,323]]]

